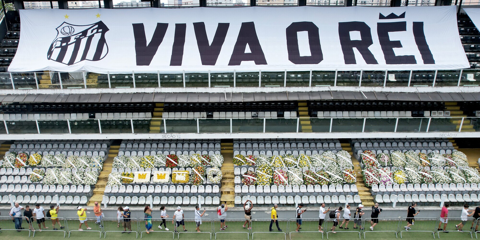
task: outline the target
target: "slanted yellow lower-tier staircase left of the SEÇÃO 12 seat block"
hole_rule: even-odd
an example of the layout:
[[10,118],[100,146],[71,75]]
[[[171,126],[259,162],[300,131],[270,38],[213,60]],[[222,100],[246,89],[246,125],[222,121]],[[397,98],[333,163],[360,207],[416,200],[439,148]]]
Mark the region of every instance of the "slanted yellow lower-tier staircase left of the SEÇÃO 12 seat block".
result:
[[115,145],[110,145],[108,151],[108,157],[103,162],[103,168],[100,174],[98,175],[98,181],[96,182],[95,188],[93,190],[93,196],[88,201],[88,206],[93,206],[94,202],[102,202],[103,194],[105,192],[105,186],[107,186],[108,174],[112,172],[113,158],[118,156],[120,149],[120,142]]

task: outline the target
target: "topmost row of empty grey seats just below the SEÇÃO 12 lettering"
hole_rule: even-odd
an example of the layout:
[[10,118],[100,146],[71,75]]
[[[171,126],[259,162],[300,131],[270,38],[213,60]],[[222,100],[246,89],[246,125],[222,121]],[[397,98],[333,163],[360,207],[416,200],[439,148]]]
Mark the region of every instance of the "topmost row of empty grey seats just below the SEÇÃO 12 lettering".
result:
[[201,143],[178,143],[178,144],[175,144],[175,143],[153,143],[153,144],[144,144],[144,143],[134,143],[134,144],[125,144],[125,143],[122,143],[120,144],[120,150],[123,150],[123,149],[126,149],[126,150],[161,150],[161,149],[169,149],[169,150],[182,150],[182,149],[196,149],[196,150],[204,150],[204,149],[211,149],[211,150],[220,150],[220,144],[219,143],[216,143],[216,144],[213,144],[213,143],[210,143],[210,144],[207,144],[207,143],[204,143],[204,144],[201,144]]

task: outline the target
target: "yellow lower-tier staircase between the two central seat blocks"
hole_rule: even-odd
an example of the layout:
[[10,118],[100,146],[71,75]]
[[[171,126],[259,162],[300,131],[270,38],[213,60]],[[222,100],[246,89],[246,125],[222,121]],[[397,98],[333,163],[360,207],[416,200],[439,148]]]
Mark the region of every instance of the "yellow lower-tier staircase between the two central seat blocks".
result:
[[[227,142],[228,141],[228,142]],[[222,139],[220,154],[223,156],[222,164],[222,197],[220,198],[221,203],[226,203],[230,206],[235,205],[235,183],[233,174],[233,140],[232,139]]]

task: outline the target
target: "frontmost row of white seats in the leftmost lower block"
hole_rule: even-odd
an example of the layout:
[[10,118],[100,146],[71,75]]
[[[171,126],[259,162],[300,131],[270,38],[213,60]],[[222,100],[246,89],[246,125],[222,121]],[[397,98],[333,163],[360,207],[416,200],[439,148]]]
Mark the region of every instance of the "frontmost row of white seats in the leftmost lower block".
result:
[[[35,204],[55,204],[57,201],[55,198],[53,198],[50,195],[43,196],[43,195],[33,195],[33,196],[12,196],[13,197],[13,202],[14,203],[19,203],[19,204],[30,204],[30,205],[35,205]],[[88,202],[87,196],[72,196],[72,195],[67,195],[67,196],[59,196],[59,204],[67,204],[67,205],[84,205]],[[3,195],[1,198],[0,204],[12,204],[10,202],[10,199],[7,195]]]

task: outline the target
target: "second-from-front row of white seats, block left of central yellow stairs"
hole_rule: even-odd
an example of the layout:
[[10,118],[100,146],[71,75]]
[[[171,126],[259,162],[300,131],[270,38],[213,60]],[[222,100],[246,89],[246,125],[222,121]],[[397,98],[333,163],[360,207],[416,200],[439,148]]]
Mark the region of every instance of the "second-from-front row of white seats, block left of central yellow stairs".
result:
[[218,185],[107,185],[105,193],[219,193]]

